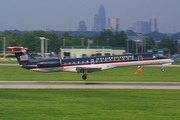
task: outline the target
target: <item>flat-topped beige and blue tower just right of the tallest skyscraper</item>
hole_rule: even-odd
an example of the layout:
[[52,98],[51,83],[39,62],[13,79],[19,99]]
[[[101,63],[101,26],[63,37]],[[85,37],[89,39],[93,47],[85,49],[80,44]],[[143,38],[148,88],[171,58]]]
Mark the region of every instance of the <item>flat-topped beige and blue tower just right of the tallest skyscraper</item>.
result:
[[119,19],[118,18],[109,18],[108,19],[108,27],[111,28],[111,31],[115,32],[119,31]]

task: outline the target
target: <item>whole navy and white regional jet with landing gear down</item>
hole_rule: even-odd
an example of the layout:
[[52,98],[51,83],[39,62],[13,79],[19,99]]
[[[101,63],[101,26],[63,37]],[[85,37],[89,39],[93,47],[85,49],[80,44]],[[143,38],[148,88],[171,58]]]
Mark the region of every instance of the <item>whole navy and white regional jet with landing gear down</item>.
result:
[[[77,72],[83,73],[82,78],[87,79],[88,73],[108,70],[116,67],[143,66],[156,64],[171,64],[173,60],[160,57],[155,53],[139,53],[127,55],[98,56],[71,59],[36,59],[23,47],[8,47],[11,49],[22,68],[38,72]],[[162,67],[162,71],[164,68]]]

